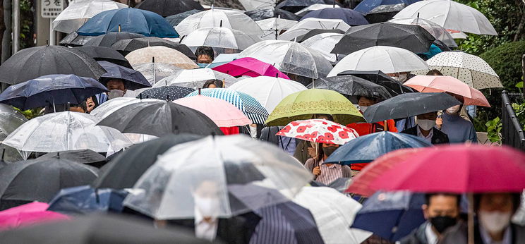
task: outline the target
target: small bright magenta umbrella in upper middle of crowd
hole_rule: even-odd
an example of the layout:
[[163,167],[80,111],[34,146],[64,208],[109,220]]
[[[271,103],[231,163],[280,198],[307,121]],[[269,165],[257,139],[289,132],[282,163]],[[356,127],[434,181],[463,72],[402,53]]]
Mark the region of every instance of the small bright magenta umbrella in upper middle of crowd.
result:
[[258,77],[260,75],[265,75],[275,77],[277,75],[279,78],[290,79],[288,75],[285,75],[270,63],[265,63],[258,59],[249,57],[224,63],[221,66],[212,68],[212,70],[227,73],[231,76],[248,75],[251,77]]

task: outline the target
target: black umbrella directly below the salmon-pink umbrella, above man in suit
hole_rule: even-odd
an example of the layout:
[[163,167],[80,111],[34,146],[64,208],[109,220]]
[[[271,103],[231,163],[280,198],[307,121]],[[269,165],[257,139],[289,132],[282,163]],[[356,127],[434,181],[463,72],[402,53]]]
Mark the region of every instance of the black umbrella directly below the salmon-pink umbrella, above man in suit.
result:
[[369,106],[363,116],[368,123],[375,123],[387,119],[410,118],[459,104],[461,102],[443,92],[405,93]]

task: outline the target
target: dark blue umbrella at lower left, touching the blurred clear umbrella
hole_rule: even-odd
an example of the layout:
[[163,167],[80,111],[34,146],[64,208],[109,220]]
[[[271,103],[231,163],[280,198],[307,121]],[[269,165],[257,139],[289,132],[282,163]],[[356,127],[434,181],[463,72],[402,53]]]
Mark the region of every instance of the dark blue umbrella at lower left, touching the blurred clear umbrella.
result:
[[47,210],[62,214],[122,212],[125,190],[91,188],[89,185],[64,188],[51,201]]

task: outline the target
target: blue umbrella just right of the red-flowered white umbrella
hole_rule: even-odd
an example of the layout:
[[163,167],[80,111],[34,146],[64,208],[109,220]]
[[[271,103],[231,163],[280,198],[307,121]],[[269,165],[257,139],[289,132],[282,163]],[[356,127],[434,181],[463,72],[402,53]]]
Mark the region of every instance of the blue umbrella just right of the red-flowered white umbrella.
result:
[[394,150],[430,146],[432,145],[429,142],[414,135],[383,131],[363,135],[346,142],[345,145],[335,150],[325,162],[339,164],[369,163],[382,154]]

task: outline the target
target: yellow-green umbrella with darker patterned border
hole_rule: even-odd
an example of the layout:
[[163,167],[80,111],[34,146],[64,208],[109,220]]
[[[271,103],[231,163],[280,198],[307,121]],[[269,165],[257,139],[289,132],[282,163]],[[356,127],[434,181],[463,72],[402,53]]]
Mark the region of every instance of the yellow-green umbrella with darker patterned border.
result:
[[286,126],[291,121],[310,119],[314,114],[330,114],[343,125],[363,122],[364,118],[346,97],[324,89],[308,89],[289,94],[268,116],[268,126]]

